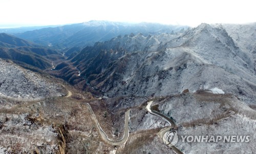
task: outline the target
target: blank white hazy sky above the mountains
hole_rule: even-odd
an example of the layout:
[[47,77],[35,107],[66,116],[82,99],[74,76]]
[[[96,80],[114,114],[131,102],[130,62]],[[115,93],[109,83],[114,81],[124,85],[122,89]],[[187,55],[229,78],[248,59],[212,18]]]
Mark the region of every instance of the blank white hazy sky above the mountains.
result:
[[60,25],[89,20],[197,26],[252,23],[255,0],[0,0],[0,27]]

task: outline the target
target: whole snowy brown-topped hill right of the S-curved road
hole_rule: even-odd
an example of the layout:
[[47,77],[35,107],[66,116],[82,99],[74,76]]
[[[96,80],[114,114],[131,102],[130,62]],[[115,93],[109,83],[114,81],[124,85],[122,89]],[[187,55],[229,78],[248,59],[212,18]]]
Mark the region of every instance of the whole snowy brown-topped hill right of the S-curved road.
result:
[[[163,114],[176,121],[179,126],[177,147],[184,153],[253,153],[256,150],[255,111],[236,97],[211,93],[187,94],[154,103],[159,104]],[[250,136],[250,142],[183,143],[181,136],[190,135]]]

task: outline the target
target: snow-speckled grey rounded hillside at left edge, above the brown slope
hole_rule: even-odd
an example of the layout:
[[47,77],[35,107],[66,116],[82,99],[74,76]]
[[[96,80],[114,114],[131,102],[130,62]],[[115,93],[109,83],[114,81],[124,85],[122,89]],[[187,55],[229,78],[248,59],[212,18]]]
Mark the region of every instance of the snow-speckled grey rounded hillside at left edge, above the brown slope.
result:
[[10,60],[0,59],[0,96],[17,99],[41,99],[63,96],[59,84],[32,71],[25,70]]

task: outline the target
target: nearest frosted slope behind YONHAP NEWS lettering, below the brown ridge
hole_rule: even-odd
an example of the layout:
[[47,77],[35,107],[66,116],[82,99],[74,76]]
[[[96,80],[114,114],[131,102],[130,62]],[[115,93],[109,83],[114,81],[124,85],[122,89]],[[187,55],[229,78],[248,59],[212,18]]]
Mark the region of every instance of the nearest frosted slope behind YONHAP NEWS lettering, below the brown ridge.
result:
[[234,115],[216,121],[216,123],[212,125],[184,127],[179,129],[178,134],[183,136],[250,136],[248,143],[225,143],[223,140],[216,143],[182,143],[182,139],[179,138],[177,146],[182,149],[184,153],[254,153],[256,151],[256,147],[254,146],[256,144],[255,132],[255,120],[241,117],[240,115]]

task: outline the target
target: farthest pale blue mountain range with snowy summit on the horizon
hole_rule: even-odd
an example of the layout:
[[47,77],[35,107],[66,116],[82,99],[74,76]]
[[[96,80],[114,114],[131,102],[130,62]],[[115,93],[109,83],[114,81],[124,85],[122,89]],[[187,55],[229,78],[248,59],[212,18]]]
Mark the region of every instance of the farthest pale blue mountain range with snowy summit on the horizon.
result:
[[125,34],[161,34],[186,29],[186,26],[171,26],[152,23],[126,24],[111,21],[89,21],[87,23],[43,28],[14,34],[40,45],[65,49],[71,47],[93,46],[97,41],[109,40]]

